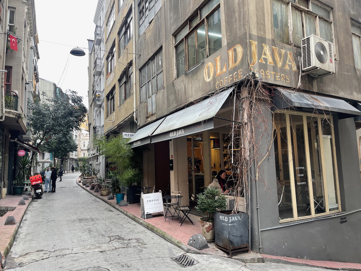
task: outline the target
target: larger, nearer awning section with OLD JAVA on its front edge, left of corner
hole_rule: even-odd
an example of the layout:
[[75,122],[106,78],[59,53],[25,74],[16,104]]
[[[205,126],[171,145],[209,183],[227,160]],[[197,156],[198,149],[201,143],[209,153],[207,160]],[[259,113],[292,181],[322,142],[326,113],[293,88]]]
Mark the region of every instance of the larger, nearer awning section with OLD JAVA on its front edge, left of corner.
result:
[[217,93],[165,117],[152,134],[151,142],[159,142],[214,128],[213,118],[228,99],[234,87]]

